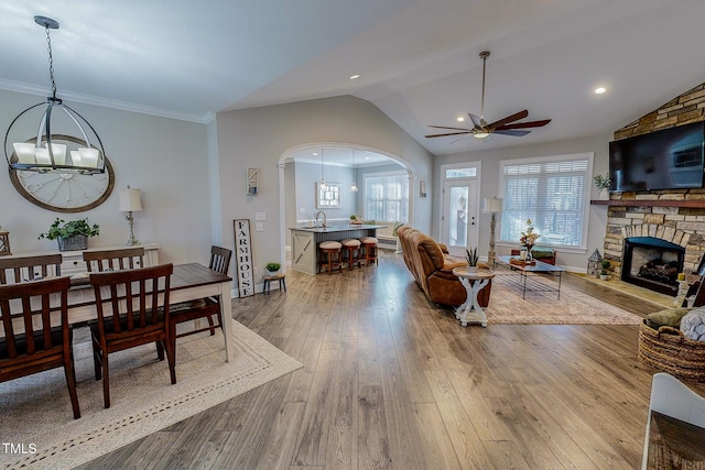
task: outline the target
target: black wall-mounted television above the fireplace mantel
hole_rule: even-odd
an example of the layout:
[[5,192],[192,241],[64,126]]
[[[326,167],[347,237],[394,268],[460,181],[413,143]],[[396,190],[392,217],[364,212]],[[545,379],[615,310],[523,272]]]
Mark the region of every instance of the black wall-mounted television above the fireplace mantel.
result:
[[609,143],[610,190],[703,187],[703,122]]

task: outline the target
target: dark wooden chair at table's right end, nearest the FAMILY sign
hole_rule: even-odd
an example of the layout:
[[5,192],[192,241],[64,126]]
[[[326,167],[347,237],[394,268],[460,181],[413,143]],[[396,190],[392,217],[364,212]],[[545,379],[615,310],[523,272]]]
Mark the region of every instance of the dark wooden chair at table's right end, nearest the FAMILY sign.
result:
[[[227,248],[210,247],[210,262],[208,266],[220,274],[228,274],[230,266],[230,258],[232,251]],[[206,297],[197,300],[182,302],[174,304],[170,309],[170,330],[172,331],[172,338],[182,338],[188,335],[195,335],[202,331],[210,331],[210,336],[216,334],[216,328],[223,328],[223,316],[220,315],[220,302],[218,298]],[[214,316],[216,321],[214,321]],[[194,327],[193,330],[176,332],[176,325],[189,321],[205,319],[208,321],[207,327]],[[175,345],[175,342],[174,342]]]

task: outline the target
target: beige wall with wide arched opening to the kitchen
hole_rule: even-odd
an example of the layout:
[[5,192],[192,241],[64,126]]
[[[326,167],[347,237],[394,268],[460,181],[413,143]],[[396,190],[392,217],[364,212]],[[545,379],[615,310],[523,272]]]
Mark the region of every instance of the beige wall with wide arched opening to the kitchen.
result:
[[[362,145],[397,155],[412,168],[414,225],[431,229],[430,198],[419,198],[417,181],[430,185],[432,155],[368,101],[350,96],[217,114],[218,164],[224,240],[232,239],[232,220],[250,219],[254,266],[261,274],[280,239],[276,164],[290,149],[319,142]],[[247,167],[261,168],[257,196],[245,193]],[[289,192],[289,188],[285,189]],[[256,212],[265,212],[263,231],[254,231]],[[232,244],[232,241],[230,241]]]

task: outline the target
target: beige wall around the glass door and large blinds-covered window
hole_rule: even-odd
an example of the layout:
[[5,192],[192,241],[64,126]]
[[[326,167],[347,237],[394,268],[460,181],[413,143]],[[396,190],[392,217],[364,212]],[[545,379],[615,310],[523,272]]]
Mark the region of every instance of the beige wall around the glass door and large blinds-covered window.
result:
[[[501,139],[498,136],[497,139]],[[513,138],[506,138],[513,139]],[[587,139],[574,139],[567,141],[557,141],[535,145],[517,145],[503,149],[492,149],[487,151],[476,151],[457,153],[453,155],[436,156],[434,161],[434,174],[436,176],[435,187],[433,192],[434,200],[434,214],[441,211],[442,197],[440,194],[440,175],[441,165],[449,163],[462,162],[481,162],[481,179],[480,179],[480,200],[485,197],[499,196],[497,188],[500,185],[499,162],[510,159],[527,159],[535,156],[546,155],[563,155],[571,153],[594,152],[595,162],[593,166],[593,173],[605,174],[608,171],[608,151],[609,141],[611,135],[595,136]],[[597,198],[597,189],[592,184],[593,198]],[[489,214],[480,214],[479,219],[479,251],[487,253],[489,250]],[[434,227],[434,237],[438,236],[440,227],[437,220],[432,221]],[[499,239],[499,223],[497,222],[496,237]],[[607,208],[605,206],[590,206],[589,220],[588,220],[588,233],[587,233],[587,250],[586,252],[568,253],[558,250],[556,263],[576,271],[585,271],[587,267],[587,258],[595,251],[596,248],[603,251],[603,244],[605,239],[605,227],[607,223]],[[498,254],[509,254],[510,247],[500,245],[497,243],[496,251]]]

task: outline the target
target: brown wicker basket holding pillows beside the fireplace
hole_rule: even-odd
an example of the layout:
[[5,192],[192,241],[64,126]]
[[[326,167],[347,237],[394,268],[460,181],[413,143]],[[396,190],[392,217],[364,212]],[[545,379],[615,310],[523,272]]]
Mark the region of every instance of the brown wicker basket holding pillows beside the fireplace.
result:
[[663,326],[654,330],[646,320],[639,328],[639,360],[682,380],[705,382],[705,341]]

